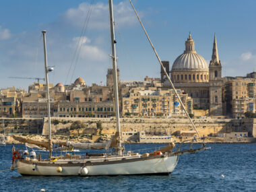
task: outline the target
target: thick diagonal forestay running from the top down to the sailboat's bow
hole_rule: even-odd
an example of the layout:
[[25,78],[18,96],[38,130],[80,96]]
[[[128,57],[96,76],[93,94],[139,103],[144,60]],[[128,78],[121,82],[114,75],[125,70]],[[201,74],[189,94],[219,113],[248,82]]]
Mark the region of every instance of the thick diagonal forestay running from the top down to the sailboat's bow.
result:
[[[129,0],[129,1],[130,1],[130,3],[131,3],[131,0]],[[202,139],[201,136],[199,135],[198,131],[197,131],[197,128],[195,127],[195,124],[193,123],[192,119],[189,117],[189,113],[187,113],[187,110],[186,110],[186,108],[185,108],[185,106],[184,106],[184,104],[183,104],[183,102],[182,102],[182,100],[181,100],[181,98],[180,98],[180,96],[179,96],[177,90],[174,88],[174,85],[172,84],[172,81],[170,80],[170,77],[169,77],[168,73],[166,72],[166,70],[165,70],[165,68],[164,68],[164,65],[162,65],[162,61],[161,61],[160,57],[158,56],[158,53],[156,53],[156,49],[154,48],[154,46],[153,46],[153,44],[152,44],[152,42],[151,42],[151,40],[150,40],[150,37],[148,36],[148,33],[146,32],[146,29],[144,28],[144,26],[143,26],[141,20],[139,19],[139,15],[137,14],[137,11],[135,10],[135,7],[133,6],[133,3],[131,3],[131,6],[133,7],[133,10],[135,11],[135,14],[136,14],[136,16],[137,16],[137,19],[139,20],[139,23],[141,24],[141,27],[143,28],[143,31],[145,32],[145,34],[146,34],[146,36],[147,36],[147,38],[148,38],[148,41],[150,42],[150,44],[151,44],[151,46],[152,46],[152,49],[153,49],[154,53],[156,54],[156,57],[157,57],[157,59],[158,59],[160,65],[161,65],[161,67],[162,67],[162,70],[164,71],[164,74],[166,75],[166,77],[167,77],[167,79],[168,79],[168,82],[170,82],[170,85],[172,86],[172,89],[174,90],[174,92],[175,92],[177,98],[179,99],[179,102],[181,103],[181,106],[183,107],[183,110],[185,110],[185,113],[186,113],[186,115],[187,115],[189,121],[190,121],[191,124],[193,125],[193,129],[195,129],[195,132],[197,132],[197,135],[198,135],[199,139]]]

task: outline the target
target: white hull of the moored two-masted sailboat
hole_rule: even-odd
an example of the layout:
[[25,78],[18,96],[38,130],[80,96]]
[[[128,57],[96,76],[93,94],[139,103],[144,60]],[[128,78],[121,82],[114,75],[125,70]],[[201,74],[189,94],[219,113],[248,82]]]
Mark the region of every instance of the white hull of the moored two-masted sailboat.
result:
[[[83,166],[83,163],[75,164],[40,164],[19,160],[16,168],[20,174],[44,175],[44,176],[96,176],[96,175],[130,175],[130,174],[170,174],[177,165],[179,156],[162,156],[158,158],[141,158],[141,160],[119,160],[106,164],[91,164]],[[57,172],[61,166],[62,171]],[[82,168],[87,173],[81,172]]]

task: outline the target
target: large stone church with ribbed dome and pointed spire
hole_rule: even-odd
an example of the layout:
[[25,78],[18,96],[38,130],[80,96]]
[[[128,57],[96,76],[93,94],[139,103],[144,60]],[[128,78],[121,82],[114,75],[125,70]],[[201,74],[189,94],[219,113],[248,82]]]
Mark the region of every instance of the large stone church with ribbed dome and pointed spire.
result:
[[[168,63],[165,63],[168,69]],[[222,115],[222,65],[218,57],[216,36],[212,60],[207,62],[195,51],[195,42],[189,34],[185,42],[185,51],[172,64],[170,77],[175,88],[184,90],[193,98],[194,109],[210,110],[210,115]],[[161,73],[161,79],[164,79]],[[165,80],[163,88],[170,88]]]

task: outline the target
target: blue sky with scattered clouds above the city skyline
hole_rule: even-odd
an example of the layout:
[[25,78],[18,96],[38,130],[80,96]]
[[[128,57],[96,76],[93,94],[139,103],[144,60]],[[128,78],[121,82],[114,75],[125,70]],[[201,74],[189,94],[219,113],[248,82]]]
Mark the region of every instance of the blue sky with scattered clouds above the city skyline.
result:
[[[129,0],[113,0],[117,65],[121,80],[160,77],[160,65]],[[256,1],[133,0],[161,60],[174,60],[185,50],[191,32],[195,50],[207,63],[214,33],[222,76],[256,70]],[[28,88],[44,77],[42,30],[46,30],[49,81],[71,84],[82,77],[89,86],[106,84],[109,54],[108,1],[0,1],[0,88]]]

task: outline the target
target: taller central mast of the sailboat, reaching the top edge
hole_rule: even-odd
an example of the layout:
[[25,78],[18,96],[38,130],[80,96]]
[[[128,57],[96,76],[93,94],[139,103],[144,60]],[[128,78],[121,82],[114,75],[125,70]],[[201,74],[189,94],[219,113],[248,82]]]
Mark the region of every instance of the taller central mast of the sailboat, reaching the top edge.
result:
[[117,132],[119,133],[119,152],[121,152],[121,130],[120,130],[120,119],[119,119],[119,95],[118,95],[118,86],[117,86],[117,57],[115,50],[115,22],[113,15],[113,3],[112,0],[108,0],[109,3],[109,18],[110,18],[110,36],[111,36],[111,47],[112,55],[110,57],[113,60],[113,77],[114,77],[114,92],[115,92],[115,109],[116,109],[116,118],[117,118]]

